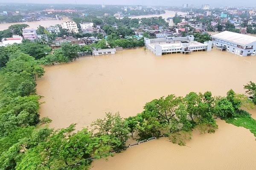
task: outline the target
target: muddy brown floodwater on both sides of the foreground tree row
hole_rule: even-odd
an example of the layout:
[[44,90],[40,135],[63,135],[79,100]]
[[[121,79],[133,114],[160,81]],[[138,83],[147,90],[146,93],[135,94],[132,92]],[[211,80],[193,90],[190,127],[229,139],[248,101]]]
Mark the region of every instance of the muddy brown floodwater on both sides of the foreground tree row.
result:
[[[105,112],[124,117],[143,110],[152,99],[190,91],[225,95],[233,88],[256,82],[256,57],[239,57],[213,49],[189,55],[154,56],[142,48],[115,55],[84,57],[76,62],[45,67],[38,80],[41,116],[52,119],[51,127],[77,123],[86,127]],[[250,111],[256,118],[256,110]],[[213,134],[193,132],[187,146],[167,139],[131,147],[123,153],[93,161],[93,170],[255,170],[256,141],[249,130],[218,120]]]

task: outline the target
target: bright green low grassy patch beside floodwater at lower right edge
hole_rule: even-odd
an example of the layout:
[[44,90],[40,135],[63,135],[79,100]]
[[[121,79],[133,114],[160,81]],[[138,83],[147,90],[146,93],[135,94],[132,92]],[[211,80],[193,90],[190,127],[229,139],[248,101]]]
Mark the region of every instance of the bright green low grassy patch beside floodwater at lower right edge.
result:
[[241,114],[234,118],[225,119],[227,123],[233,124],[238,127],[245,127],[250,130],[256,137],[256,120],[250,114]]

